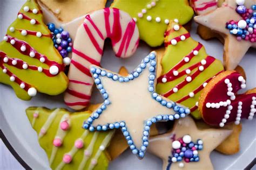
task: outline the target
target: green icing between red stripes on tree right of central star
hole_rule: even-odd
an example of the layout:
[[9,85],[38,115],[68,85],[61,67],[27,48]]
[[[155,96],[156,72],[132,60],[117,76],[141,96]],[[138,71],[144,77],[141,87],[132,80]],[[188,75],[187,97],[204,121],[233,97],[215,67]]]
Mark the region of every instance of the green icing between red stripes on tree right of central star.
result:
[[[175,25],[175,23],[171,23],[169,26],[169,29],[167,31],[170,31],[169,36],[165,38],[165,41],[170,41],[173,38],[179,37],[182,34],[188,33],[187,30],[184,29],[184,27],[180,26],[179,31],[173,31],[172,27]],[[169,45],[166,47],[165,54],[161,60],[161,66],[162,66],[162,74],[164,75],[171,68],[173,68],[177,63],[184,58],[184,56],[188,55],[195,47],[197,47],[198,42],[193,40],[192,38],[187,38],[185,41],[179,41],[177,45]],[[178,72],[181,70],[184,70],[195,63],[200,62],[201,60],[205,59],[207,56],[207,53],[205,51],[205,48],[202,47],[198,53],[198,55],[194,56],[190,62],[186,63],[184,66],[180,67],[178,69]],[[191,74],[196,72],[198,68],[191,70]],[[201,72],[194,80],[192,80],[190,83],[187,83],[186,86],[179,89],[177,93],[173,93],[168,98],[172,101],[178,101],[184,96],[187,96],[191,91],[197,89],[201,84],[203,84],[206,80],[210,79],[217,73],[219,73],[221,70],[224,70],[223,65],[221,61],[215,60],[210,66],[208,66],[206,69],[204,69],[203,72]],[[156,90],[159,94],[165,94],[167,91],[171,90],[173,87],[177,86],[177,84],[183,82],[185,80],[185,77],[187,75],[181,76],[176,80],[166,82],[166,83],[158,83]],[[190,97],[187,100],[181,102],[180,104],[185,105],[186,107],[192,108],[198,101],[198,98],[201,94],[201,91],[199,93],[196,93],[194,97]],[[200,114],[198,112],[198,109],[193,111],[191,113],[195,118],[200,118]]]

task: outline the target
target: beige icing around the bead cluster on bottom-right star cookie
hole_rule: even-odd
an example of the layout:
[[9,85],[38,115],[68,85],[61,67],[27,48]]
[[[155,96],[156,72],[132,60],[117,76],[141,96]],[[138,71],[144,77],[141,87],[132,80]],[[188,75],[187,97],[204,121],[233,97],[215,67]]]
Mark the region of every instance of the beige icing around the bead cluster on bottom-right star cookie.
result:
[[[159,136],[153,137],[149,140],[149,152],[157,155],[159,158],[163,159],[163,169],[213,169],[213,165],[210,159],[210,153],[217,147],[222,141],[224,141],[230,134],[232,130],[221,130],[221,129],[206,129],[199,130],[190,116],[186,118],[179,119],[174,123],[174,128],[171,132],[161,134]],[[198,161],[185,162],[180,160],[178,162],[172,162],[170,157],[172,157],[173,146],[177,146],[177,139],[183,138],[185,136],[190,136],[190,144],[192,141],[203,144],[203,148],[197,151],[199,157]],[[188,137],[189,138],[189,137]],[[184,143],[186,143],[186,138],[183,138]],[[175,142],[173,142],[175,141]],[[187,145],[189,145],[187,144]],[[193,150],[193,148],[192,148]],[[181,149],[182,151],[182,149]],[[176,150],[177,152],[177,150]],[[180,154],[179,154],[180,155]],[[187,157],[185,152],[185,158]],[[174,158],[175,159],[175,158]],[[178,158],[179,159],[179,158]],[[182,167],[182,168],[181,168]]]

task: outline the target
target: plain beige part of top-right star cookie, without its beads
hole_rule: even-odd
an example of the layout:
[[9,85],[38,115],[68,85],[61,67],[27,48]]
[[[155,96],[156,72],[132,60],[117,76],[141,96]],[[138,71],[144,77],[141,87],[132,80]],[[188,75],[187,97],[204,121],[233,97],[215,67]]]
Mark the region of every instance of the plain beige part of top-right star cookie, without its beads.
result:
[[[256,0],[246,0],[245,6],[251,8],[256,4]],[[205,15],[194,17],[194,20],[204,25],[211,30],[219,33],[223,36],[224,43],[224,65],[227,70],[232,70],[237,67],[242,57],[247,52],[248,48],[256,48],[256,43],[249,40],[238,41],[237,37],[230,33],[230,30],[226,29],[226,23],[234,20],[238,22],[242,20],[242,17],[236,11],[237,3],[235,0],[226,0],[221,8],[218,8]]]

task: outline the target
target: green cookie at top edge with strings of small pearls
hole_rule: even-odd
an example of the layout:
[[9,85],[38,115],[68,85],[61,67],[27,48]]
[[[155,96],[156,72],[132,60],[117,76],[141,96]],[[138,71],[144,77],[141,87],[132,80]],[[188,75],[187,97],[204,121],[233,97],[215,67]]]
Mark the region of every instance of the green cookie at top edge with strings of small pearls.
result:
[[128,12],[136,21],[140,39],[151,47],[163,44],[170,20],[177,18],[184,25],[193,16],[187,0],[114,0],[111,7]]

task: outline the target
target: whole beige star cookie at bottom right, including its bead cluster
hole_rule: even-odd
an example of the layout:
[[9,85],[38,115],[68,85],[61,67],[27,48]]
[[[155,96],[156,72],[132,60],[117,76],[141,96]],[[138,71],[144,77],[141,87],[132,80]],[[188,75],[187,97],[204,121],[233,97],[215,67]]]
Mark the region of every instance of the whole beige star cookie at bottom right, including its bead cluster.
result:
[[171,132],[153,137],[149,152],[163,159],[163,169],[213,169],[210,154],[231,130],[199,130],[190,116],[174,123]]

